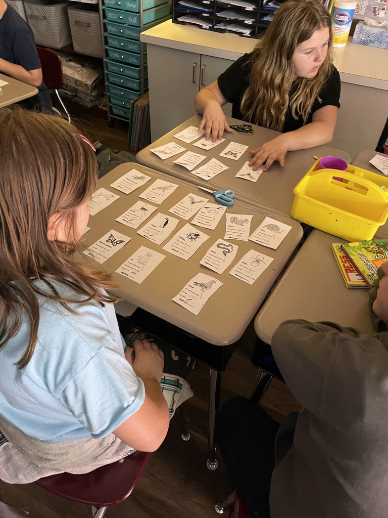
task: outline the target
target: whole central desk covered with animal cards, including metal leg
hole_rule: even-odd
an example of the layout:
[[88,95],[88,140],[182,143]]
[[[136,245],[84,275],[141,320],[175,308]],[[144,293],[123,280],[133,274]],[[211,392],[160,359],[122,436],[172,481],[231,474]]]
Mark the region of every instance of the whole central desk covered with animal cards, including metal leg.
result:
[[[124,194],[110,186],[112,182],[121,178],[127,172],[135,169],[137,174],[150,176],[145,185],[136,189],[130,194]],[[106,271],[114,272],[113,279],[120,287],[114,291],[115,295],[122,297],[131,304],[138,306],[138,309],[130,316],[133,325],[149,332],[156,337],[159,342],[168,342],[173,348],[180,349],[200,361],[207,363],[211,368],[211,394],[209,412],[209,460],[210,469],[216,467],[215,442],[214,442],[214,423],[215,411],[219,402],[220,373],[225,369],[226,362],[231,355],[232,344],[235,343],[244,333],[249,322],[255,315],[260,304],[265,298],[276,278],[285,266],[289,256],[302,238],[302,227],[291,217],[272,211],[271,215],[277,221],[289,225],[290,231],[284,237],[279,247],[274,250],[263,247],[251,241],[234,241],[238,244],[238,251],[235,260],[222,274],[216,274],[210,269],[199,264],[199,261],[206,253],[207,249],[225,234],[226,218],[222,217],[215,230],[196,227],[198,231],[204,231],[210,238],[202,243],[201,247],[187,261],[177,257],[162,247],[168,240],[175,235],[178,229],[189,220],[180,220],[177,227],[161,245],[156,245],[150,240],[137,234],[132,229],[115,219],[128,210],[133,204],[138,202],[139,194],[145,191],[155,179],[168,181],[170,184],[177,184],[177,189],[157,207],[150,218],[148,218],[139,228],[143,227],[155,214],[161,212],[172,215],[168,211],[177,202],[190,193],[202,196],[198,189],[191,183],[183,179],[172,179],[171,176],[147,168],[139,164],[121,164],[115,167],[107,175],[98,180],[97,189],[105,188],[110,193],[119,195],[111,205],[101,210],[89,218],[88,226],[90,229],[82,238],[82,247],[90,247],[102,236],[112,230],[118,231],[131,240],[123,248],[114,253],[108,260],[100,265],[93,258],[85,254],[79,254],[78,260],[91,264],[94,268],[103,268]],[[214,203],[213,197],[205,196],[210,202]],[[148,204],[150,202],[147,202]],[[250,230],[253,232],[267,215],[260,204],[252,209],[244,200],[236,199],[232,207],[227,208],[228,213],[252,214]],[[107,241],[108,242],[108,241]],[[158,251],[166,257],[156,267],[154,271],[141,283],[138,284],[129,278],[115,272],[129,256],[138,251],[140,246]],[[241,280],[229,275],[230,269],[240,260],[240,258],[250,250],[252,261],[260,254],[273,257],[273,261],[261,274],[261,276],[249,285]],[[191,313],[184,307],[176,304],[171,299],[180,293],[185,284],[199,272],[215,277],[223,282],[223,285],[210,297],[198,315]],[[223,346],[223,347],[219,347]],[[229,347],[230,346],[230,347]]]

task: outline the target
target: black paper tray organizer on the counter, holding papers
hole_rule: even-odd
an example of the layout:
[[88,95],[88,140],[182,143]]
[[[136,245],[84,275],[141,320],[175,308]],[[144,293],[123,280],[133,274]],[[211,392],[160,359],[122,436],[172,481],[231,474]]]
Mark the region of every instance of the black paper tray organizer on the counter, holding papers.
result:
[[285,0],[172,0],[172,21],[260,38]]

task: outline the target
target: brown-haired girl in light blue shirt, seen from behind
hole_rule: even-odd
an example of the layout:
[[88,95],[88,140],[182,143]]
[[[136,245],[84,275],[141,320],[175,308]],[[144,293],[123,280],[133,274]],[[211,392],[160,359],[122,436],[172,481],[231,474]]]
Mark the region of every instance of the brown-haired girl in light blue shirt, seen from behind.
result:
[[111,277],[73,259],[96,185],[95,153],[59,118],[0,110],[0,478],[87,472],[169,426],[163,353],[124,353]]

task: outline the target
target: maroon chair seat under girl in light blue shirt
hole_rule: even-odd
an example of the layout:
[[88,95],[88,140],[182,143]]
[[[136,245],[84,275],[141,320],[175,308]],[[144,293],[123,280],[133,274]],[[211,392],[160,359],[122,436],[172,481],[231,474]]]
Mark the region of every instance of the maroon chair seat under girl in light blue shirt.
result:
[[89,473],[59,473],[35,483],[54,495],[91,506],[94,518],[102,518],[108,507],[117,506],[132,493],[150,456],[137,451]]

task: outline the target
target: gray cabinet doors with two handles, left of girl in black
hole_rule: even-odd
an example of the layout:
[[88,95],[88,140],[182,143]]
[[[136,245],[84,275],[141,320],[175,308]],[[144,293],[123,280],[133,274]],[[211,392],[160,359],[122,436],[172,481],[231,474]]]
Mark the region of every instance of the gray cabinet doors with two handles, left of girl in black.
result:
[[[194,98],[233,63],[220,57],[147,44],[151,140],[195,113]],[[231,105],[224,107],[231,114]]]

